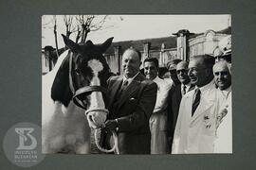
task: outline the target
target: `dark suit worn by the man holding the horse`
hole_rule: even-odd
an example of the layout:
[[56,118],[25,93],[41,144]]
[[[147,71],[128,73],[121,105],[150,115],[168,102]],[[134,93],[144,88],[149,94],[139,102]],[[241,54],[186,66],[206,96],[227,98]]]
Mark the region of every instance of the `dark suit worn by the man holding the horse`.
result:
[[150,154],[149,118],[155,108],[157,85],[138,74],[118,96],[121,84],[122,76],[112,76],[107,88],[108,119],[118,119],[119,124],[119,152]]

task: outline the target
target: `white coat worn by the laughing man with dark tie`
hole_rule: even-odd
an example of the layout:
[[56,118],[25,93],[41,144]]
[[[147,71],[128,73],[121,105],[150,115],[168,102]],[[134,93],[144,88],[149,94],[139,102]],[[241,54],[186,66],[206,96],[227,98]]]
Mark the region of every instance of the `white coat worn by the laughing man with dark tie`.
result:
[[174,130],[173,154],[213,153],[215,139],[216,88],[214,82],[200,88],[200,104],[192,116],[194,90],[180,103]]

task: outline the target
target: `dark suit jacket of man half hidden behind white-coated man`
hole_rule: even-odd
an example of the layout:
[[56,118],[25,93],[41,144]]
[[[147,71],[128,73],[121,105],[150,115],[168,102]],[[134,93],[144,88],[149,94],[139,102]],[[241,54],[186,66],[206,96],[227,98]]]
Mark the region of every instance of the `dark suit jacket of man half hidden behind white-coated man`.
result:
[[[194,85],[191,85],[189,91],[191,91],[194,88]],[[170,92],[169,92],[169,106],[168,106],[168,131],[169,131],[169,137],[173,139],[174,136],[174,129],[177,121],[178,111],[179,111],[179,105],[181,102],[182,94],[181,94],[181,84],[172,86]]]

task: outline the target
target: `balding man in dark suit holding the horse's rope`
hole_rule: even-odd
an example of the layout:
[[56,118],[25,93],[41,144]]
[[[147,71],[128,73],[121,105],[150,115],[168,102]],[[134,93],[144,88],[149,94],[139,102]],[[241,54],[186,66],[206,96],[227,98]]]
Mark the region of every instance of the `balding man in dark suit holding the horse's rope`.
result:
[[[150,154],[149,118],[155,108],[157,85],[139,73],[140,59],[136,49],[125,50],[123,76],[108,80],[105,126],[117,130],[120,154]],[[111,140],[106,138],[106,143]]]

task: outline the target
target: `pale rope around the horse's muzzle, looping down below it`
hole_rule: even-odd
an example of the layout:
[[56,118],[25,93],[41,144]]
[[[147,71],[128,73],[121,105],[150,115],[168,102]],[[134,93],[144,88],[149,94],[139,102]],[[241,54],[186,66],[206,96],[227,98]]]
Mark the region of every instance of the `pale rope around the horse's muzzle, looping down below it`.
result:
[[[101,109],[101,108],[92,109],[92,110],[85,110],[85,115],[86,115],[86,117],[89,117],[89,116],[90,116],[90,112],[91,112],[91,111],[102,111],[102,112],[105,112],[106,114],[108,113],[108,110],[106,110],[106,109]],[[95,144],[97,145],[98,149],[99,149],[101,152],[105,152],[105,153],[111,153],[111,152],[115,152],[115,151],[116,151],[116,153],[119,154],[119,139],[118,139],[118,134],[117,134],[117,132],[116,132],[115,130],[111,130],[112,135],[113,135],[113,138],[114,138],[114,145],[113,145],[113,147],[112,147],[111,149],[109,149],[109,150],[108,150],[108,149],[104,149],[104,148],[102,148],[101,145],[100,145],[100,140],[98,140],[98,139],[99,139],[99,138],[98,138],[98,134],[99,134],[99,132],[101,132],[101,129],[102,129],[103,127],[105,127],[105,124],[103,124],[103,125],[97,127],[97,126],[93,123],[93,121],[92,121],[90,118],[88,118],[88,121],[90,121],[90,122],[93,124],[94,128],[95,128],[95,131],[94,131],[94,139],[95,139]]]

